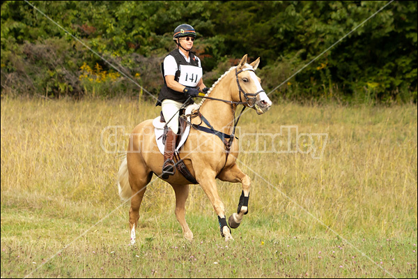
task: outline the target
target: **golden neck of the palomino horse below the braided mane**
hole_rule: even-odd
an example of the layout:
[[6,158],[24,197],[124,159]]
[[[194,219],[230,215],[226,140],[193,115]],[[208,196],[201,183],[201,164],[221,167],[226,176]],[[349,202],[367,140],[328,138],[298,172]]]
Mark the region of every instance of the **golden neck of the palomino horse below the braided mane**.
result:
[[[209,97],[231,100],[231,86],[227,80],[229,80],[229,77],[224,77],[224,80],[212,89]],[[201,106],[200,112],[208,119],[215,130],[219,130],[222,133],[231,133],[235,108],[236,105],[231,105],[231,103],[207,99]]]

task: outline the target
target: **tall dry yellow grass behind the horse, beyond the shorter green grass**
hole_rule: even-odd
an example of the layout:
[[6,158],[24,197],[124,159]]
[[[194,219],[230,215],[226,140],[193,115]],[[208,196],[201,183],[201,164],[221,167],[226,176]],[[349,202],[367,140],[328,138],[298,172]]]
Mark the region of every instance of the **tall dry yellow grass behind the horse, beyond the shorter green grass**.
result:
[[[155,117],[159,107],[128,100],[1,100],[1,202],[23,206],[63,201],[115,205],[116,171],[120,161],[107,140],[116,128],[117,149],[123,151],[130,130]],[[245,150],[263,149],[269,135],[289,143],[286,127],[298,133],[326,133],[323,155],[313,153],[242,153],[238,165],[253,179],[251,211],[288,218],[282,229],[323,227],[311,213],[339,232],[376,235],[410,234],[417,225],[417,109],[401,107],[303,107],[274,105],[263,116],[247,112],[240,122]],[[258,133],[254,136],[244,133]],[[296,150],[295,130],[290,144]],[[248,142],[247,140],[251,140]],[[279,147],[277,140],[274,142]],[[287,145],[284,146],[287,146]],[[300,144],[300,143],[299,143]],[[325,144],[325,145],[324,145]],[[268,146],[268,144],[266,145]],[[269,146],[268,146],[269,147]],[[268,148],[267,147],[267,148]],[[309,149],[300,144],[300,149]],[[320,149],[316,156],[320,155]],[[155,177],[155,176],[154,176]],[[173,202],[166,183],[154,181],[146,193],[146,210],[164,211]],[[235,210],[240,186],[219,182],[229,211]],[[7,199],[6,199],[7,197]],[[189,211],[212,214],[199,187],[193,187]],[[306,209],[306,211],[302,210]],[[416,230],[415,230],[416,234]]]

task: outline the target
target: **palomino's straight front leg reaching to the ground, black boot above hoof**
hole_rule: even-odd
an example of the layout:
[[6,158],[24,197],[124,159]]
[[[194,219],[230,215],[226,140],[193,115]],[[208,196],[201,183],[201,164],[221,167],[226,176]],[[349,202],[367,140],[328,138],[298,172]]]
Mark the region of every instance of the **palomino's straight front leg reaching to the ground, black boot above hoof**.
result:
[[233,240],[233,237],[231,235],[231,229],[229,229],[228,224],[226,223],[225,206],[219,197],[215,176],[215,172],[206,170],[200,175],[196,175],[196,180],[209,197],[213,209],[215,209],[215,212],[217,213],[221,236],[225,238],[225,241],[229,241]]

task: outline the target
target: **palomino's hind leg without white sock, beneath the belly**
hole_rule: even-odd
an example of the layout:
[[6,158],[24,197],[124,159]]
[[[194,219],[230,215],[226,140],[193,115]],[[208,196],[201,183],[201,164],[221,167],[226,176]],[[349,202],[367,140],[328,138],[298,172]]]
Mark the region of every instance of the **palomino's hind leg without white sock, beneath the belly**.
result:
[[180,223],[181,228],[183,229],[183,236],[188,241],[193,240],[193,233],[189,229],[189,225],[187,225],[185,216],[186,216],[186,209],[185,204],[187,197],[189,196],[189,185],[176,185],[171,184],[174,189],[174,193],[176,193],[176,218],[178,223]]

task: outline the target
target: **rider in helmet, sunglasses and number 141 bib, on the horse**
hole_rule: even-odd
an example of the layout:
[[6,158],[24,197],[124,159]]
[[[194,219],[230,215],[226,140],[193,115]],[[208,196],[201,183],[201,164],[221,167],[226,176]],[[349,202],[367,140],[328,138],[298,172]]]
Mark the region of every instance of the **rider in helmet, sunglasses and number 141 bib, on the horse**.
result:
[[158,96],[157,105],[161,105],[164,119],[168,121],[162,166],[163,179],[168,179],[174,174],[173,153],[178,137],[180,107],[187,100],[189,101],[185,105],[192,104],[193,100],[189,96],[196,97],[199,88],[203,88],[205,93],[208,91],[202,80],[201,61],[194,52],[191,52],[195,38],[196,31],[191,25],[180,24],[176,27],[173,40],[177,47],[165,57],[161,66],[164,85]]

